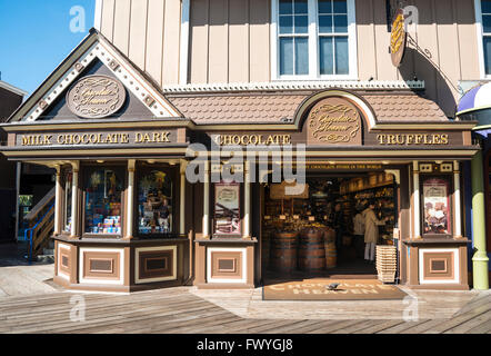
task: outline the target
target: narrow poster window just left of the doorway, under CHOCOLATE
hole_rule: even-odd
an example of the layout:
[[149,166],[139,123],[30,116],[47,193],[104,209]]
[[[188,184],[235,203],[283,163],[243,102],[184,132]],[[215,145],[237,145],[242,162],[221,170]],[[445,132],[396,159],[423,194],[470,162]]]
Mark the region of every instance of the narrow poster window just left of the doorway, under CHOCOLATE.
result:
[[214,234],[240,235],[240,185],[214,185]]

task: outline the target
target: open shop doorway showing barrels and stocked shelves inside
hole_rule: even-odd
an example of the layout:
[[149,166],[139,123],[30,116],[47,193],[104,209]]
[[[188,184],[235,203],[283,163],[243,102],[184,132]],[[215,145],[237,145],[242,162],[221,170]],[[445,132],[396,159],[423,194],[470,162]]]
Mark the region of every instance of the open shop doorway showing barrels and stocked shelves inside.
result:
[[288,186],[269,184],[262,191],[263,280],[375,279],[375,264],[365,260],[364,227],[355,221],[364,222],[373,204],[377,219],[384,221],[377,244],[393,245],[399,216],[393,176],[308,172],[303,191],[287,195]]

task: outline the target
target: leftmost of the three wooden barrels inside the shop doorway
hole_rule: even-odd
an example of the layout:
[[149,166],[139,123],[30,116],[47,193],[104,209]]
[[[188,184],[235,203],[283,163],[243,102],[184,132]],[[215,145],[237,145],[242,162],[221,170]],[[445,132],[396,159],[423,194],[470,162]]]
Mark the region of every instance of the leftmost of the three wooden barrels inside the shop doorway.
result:
[[271,239],[270,267],[273,270],[291,273],[297,268],[297,233],[277,233]]

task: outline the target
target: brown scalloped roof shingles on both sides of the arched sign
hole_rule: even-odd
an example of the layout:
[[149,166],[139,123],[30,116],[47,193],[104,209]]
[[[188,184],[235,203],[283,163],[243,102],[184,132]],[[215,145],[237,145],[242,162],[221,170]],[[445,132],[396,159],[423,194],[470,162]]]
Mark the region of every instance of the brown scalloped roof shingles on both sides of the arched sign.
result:
[[[171,101],[186,118],[198,125],[281,123],[292,119],[305,92],[187,93],[171,95]],[[448,121],[440,107],[414,92],[369,92],[361,95],[379,122]]]

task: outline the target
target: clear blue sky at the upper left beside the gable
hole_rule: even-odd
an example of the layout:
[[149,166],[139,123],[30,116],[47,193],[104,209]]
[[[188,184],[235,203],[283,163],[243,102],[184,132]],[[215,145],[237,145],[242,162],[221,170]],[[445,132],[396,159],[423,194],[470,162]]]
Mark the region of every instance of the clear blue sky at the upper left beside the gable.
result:
[[[0,0],[1,79],[32,93],[93,27],[94,6],[96,0]],[[84,9],[84,32],[70,29],[80,23],[70,14],[73,7]]]

